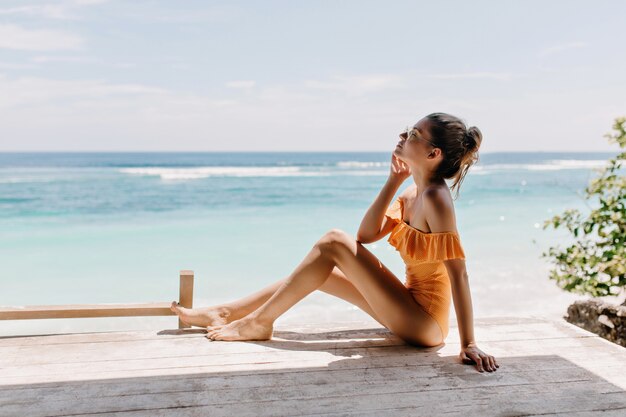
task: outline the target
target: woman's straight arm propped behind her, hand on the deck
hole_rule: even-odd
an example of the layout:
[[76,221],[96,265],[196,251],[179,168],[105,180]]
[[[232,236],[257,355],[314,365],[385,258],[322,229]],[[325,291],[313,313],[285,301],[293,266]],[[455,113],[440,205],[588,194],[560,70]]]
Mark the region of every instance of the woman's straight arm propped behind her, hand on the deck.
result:
[[[432,189],[424,192],[424,212],[431,232],[456,231],[454,207],[449,196],[440,190]],[[474,339],[474,313],[465,260],[448,259],[444,261],[444,265],[450,278],[454,310],[459,325],[461,338],[459,357],[464,363],[476,364],[480,372],[484,369],[489,372],[495,371],[500,367],[496,359],[480,350]]]

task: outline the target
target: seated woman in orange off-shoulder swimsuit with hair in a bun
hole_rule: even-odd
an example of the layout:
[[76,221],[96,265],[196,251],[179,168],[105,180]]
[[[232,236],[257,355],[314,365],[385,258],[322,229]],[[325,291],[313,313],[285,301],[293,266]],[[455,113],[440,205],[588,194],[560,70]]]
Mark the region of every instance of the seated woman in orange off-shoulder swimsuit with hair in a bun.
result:
[[[240,300],[209,308],[172,311],[193,326],[207,328],[210,340],[268,340],[273,323],[315,290],[342,298],[367,312],[411,345],[437,346],[448,334],[450,293],[454,299],[460,358],[477,369],[499,368],[474,340],[472,302],[465,254],[445,179],[458,189],[478,160],[482,134],[458,118],[432,113],[400,134],[389,178],[365,213],[356,239],[332,229],[287,278]],[[389,204],[402,182],[414,184]],[[362,243],[390,234],[406,263],[403,285]]]

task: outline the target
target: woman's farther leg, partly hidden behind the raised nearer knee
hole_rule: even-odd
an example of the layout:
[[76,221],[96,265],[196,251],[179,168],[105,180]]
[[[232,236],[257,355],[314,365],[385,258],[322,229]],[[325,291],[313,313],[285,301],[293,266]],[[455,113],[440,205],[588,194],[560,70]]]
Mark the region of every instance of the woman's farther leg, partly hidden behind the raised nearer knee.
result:
[[[184,308],[179,306],[176,301],[173,301],[171,309],[184,323],[191,326],[207,327],[228,324],[247,316],[262,306],[278,291],[286,279],[287,278],[276,281],[254,294],[250,294],[230,303],[212,307]],[[365,298],[363,298],[363,295],[352,285],[339,268],[333,268],[324,284],[322,284],[318,290],[354,304],[382,325],[380,319],[378,319],[378,316],[374,313],[374,310],[372,310]]]

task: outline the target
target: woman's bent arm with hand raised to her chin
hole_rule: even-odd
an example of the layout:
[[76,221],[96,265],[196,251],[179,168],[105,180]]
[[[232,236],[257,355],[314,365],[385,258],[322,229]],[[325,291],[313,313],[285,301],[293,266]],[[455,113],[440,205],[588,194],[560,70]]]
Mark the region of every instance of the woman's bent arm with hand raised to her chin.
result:
[[385,212],[400,185],[410,175],[411,171],[408,166],[396,159],[395,155],[392,155],[389,177],[363,216],[359,231],[356,234],[357,241],[361,243],[376,242],[391,231],[392,225],[387,222]]

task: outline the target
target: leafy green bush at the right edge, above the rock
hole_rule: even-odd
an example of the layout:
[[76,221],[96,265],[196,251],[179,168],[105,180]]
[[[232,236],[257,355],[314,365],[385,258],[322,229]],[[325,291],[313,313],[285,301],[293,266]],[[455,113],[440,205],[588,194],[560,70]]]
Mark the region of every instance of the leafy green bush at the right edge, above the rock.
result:
[[575,209],[546,220],[543,229],[567,229],[574,243],[566,248],[550,247],[542,257],[551,258],[550,279],[573,293],[593,297],[618,295],[626,287],[626,176],[620,169],[626,160],[626,117],[615,119],[613,135],[622,152],[609,159],[599,177],[585,188],[585,199],[598,205],[587,217]]

